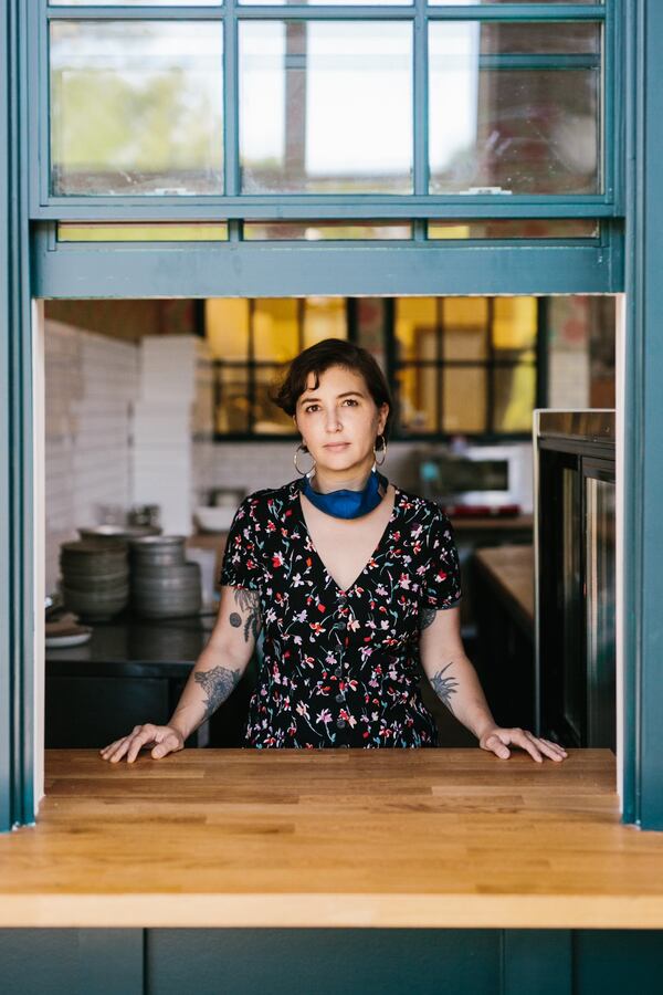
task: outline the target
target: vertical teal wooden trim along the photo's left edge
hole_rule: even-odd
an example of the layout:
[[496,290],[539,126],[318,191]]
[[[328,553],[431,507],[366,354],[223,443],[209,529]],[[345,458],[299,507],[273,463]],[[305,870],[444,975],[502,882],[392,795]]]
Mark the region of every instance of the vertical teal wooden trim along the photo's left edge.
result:
[[0,0],[0,831],[34,819],[24,0]]

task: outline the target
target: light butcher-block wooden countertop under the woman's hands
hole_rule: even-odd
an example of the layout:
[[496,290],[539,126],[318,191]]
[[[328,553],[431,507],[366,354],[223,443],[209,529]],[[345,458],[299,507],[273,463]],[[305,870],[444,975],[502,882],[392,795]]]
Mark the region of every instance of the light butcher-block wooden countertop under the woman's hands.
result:
[[46,751],[1,926],[663,928],[609,750]]

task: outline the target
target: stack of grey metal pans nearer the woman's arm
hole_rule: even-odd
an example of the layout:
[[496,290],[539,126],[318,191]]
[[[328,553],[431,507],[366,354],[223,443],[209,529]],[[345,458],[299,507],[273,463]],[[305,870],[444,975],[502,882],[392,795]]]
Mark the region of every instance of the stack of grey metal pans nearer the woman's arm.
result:
[[131,605],[144,618],[185,618],[202,605],[200,566],[185,559],[185,537],[150,535],[129,542]]

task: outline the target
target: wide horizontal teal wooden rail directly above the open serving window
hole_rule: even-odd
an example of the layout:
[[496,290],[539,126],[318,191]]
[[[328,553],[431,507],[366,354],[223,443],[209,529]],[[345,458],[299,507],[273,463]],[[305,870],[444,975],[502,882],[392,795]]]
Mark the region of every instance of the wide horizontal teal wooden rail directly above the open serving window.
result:
[[33,245],[40,297],[614,293],[619,252],[587,248]]

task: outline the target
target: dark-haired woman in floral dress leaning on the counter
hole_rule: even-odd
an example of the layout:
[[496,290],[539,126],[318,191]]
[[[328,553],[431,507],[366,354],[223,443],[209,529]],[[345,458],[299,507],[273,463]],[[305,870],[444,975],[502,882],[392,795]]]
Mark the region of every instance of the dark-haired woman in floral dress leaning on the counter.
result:
[[511,744],[561,761],[557,744],[495,724],[461,641],[451,524],[378,470],[392,406],[375,359],[325,339],[293,360],[274,400],[302,434],[301,476],[238,509],[219,616],[169,724],[136,726],[102,756],[131,763],[145,746],[152,757],[181,750],[232,693],[264,628],[248,746],[436,746],[420,659],[483,750],[506,758]]

